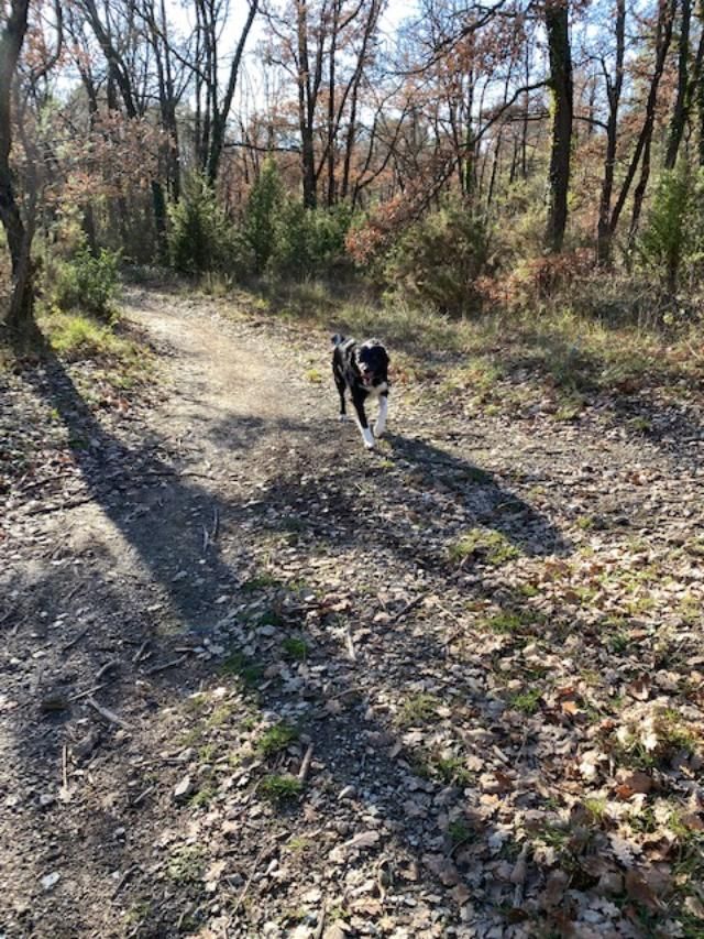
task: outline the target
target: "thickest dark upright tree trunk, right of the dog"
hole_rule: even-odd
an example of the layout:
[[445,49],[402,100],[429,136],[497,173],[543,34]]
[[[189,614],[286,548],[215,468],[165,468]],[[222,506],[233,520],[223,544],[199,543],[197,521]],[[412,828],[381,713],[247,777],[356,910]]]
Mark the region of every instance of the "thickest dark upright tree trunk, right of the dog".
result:
[[546,29],[550,52],[552,94],[552,146],[550,151],[550,194],[544,244],[548,251],[562,250],[568,222],[570,157],[572,149],[572,55],[569,33],[569,0],[551,0],[546,8]]

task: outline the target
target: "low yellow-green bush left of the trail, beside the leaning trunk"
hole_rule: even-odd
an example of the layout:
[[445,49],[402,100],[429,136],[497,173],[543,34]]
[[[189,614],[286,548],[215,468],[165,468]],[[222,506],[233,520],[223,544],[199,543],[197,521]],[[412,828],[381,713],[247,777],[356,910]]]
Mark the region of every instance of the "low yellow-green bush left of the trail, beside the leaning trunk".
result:
[[94,256],[88,248],[80,248],[70,260],[57,262],[52,302],[64,310],[79,309],[100,319],[113,318],[119,261],[117,252],[103,249]]

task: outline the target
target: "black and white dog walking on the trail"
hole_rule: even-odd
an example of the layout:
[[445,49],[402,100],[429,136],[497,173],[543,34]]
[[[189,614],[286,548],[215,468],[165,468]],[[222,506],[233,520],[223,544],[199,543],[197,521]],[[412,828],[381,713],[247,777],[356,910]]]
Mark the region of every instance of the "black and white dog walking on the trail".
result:
[[[378,339],[367,339],[359,345],[354,339],[333,336],[332,374],[340,394],[340,421],[345,417],[344,392],[349,390],[356,412],[358,424],[364,446],[372,450],[374,437],[381,437],[386,428],[388,408],[388,353]],[[370,429],[364,403],[367,397],[378,401],[378,416],[374,434]]]

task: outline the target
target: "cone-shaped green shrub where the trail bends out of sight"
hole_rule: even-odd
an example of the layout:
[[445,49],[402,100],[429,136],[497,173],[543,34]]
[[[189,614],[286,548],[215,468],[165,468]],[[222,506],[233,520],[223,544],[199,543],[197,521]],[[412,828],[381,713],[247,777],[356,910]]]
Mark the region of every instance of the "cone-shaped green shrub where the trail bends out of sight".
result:
[[246,272],[250,252],[202,177],[187,182],[182,199],[169,208],[170,262],[183,274]]

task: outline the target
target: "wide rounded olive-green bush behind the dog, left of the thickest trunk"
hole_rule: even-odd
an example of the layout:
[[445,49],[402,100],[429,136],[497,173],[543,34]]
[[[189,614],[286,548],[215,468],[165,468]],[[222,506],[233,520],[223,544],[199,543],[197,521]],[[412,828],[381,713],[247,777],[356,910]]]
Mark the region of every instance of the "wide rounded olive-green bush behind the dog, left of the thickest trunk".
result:
[[410,303],[453,316],[480,306],[475,287],[488,260],[490,227],[462,200],[414,222],[391,249],[384,279]]

